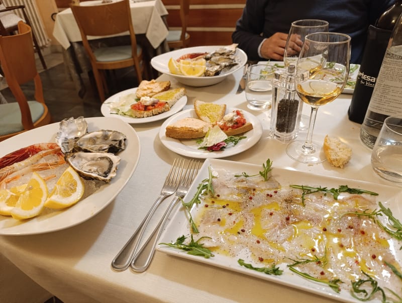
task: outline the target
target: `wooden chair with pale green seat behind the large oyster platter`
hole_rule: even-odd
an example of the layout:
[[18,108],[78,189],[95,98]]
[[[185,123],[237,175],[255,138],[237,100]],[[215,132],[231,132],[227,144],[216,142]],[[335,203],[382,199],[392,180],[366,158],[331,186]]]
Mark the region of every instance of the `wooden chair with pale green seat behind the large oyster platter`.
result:
[[[0,62],[7,84],[17,100],[0,104],[0,141],[51,122],[36,69],[31,27],[20,21],[18,32],[13,36],[0,36]],[[28,101],[20,86],[32,80],[36,101]]]

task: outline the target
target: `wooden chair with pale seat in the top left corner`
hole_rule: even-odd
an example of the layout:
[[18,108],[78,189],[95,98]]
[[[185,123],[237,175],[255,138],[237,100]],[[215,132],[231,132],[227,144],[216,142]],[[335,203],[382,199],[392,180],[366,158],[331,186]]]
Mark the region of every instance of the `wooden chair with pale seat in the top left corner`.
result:
[[[25,13],[24,9],[25,9],[24,5],[6,7],[0,1],[0,35],[8,36],[11,33],[14,33],[15,31],[17,31],[18,23],[20,21],[27,23],[29,26],[31,25],[31,23],[29,22],[27,13]],[[15,11],[15,10],[21,10],[25,20],[21,19],[17,14],[14,14],[13,11]],[[43,58],[38,41],[36,40],[36,37],[33,32],[32,32],[32,39],[33,39],[33,42],[35,45],[35,51],[38,52],[39,59],[41,60],[42,66],[44,69],[47,69],[45,59]]]

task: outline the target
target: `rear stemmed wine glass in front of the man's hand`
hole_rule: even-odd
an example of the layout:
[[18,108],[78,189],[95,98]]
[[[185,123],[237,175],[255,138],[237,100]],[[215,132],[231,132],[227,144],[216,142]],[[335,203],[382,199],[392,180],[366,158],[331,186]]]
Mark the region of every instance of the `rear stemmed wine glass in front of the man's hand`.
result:
[[[283,63],[286,67],[290,64],[296,64],[306,35],[319,32],[328,32],[327,21],[306,19],[292,22],[289,34],[287,35],[285,53],[283,55]],[[308,121],[309,116],[302,115],[298,129],[306,130],[308,128]]]

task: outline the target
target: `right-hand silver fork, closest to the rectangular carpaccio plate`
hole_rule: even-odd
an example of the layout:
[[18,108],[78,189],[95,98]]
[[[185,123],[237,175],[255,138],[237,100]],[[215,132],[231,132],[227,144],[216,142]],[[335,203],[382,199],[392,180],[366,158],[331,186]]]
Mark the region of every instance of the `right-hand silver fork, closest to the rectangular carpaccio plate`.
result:
[[141,247],[138,253],[135,254],[131,263],[131,269],[135,272],[143,272],[148,268],[149,264],[151,264],[152,257],[155,252],[155,247],[158,242],[159,236],[162,233],[163,226],[165,225],[165,222],[169,217],[170,212],[176,205],[177,201],[187,194],[188,188],[197,175],[198,170],[199,162],[191,160],[188,163],[185,173],[183,174],[183,178],[180,182],[179,187],[177,188],[176,195],[174,196],[166,212],[163,214],[162,219],[159,221],[155,230],[152,232],[151,236],[148,238],[145,244]]

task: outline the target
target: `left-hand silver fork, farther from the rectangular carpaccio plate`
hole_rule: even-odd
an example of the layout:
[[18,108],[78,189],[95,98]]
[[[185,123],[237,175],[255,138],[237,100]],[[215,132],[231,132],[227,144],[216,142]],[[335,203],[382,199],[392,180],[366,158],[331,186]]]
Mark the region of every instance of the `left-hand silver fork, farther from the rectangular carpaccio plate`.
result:
[[142,235],[144,234],[145,228],[147,227],[149,220],[151,219],[152,215],[154,214],[159,204],[166,197],[171,196],[176,191],[177,186],[180,183],[183,168],[184,168],[184,159],[180,160],[178,160],[177,158],[174,159],[173,165],[170,168],[169,174],[166,177],[165,183],[163,184],[159,197],[156,199],[155,203],[152,205],[151,209],[148,211],[147,215],[142,220],[140,226],[135,231],[133,236],[131,236],[130,240],[127,241],[125,246],[113,259],[112,267],[114,269],[122,271],[126,270],[130,266],[130,263],[133,260],[133,256],[138,249],[140,240],[142,238]]

